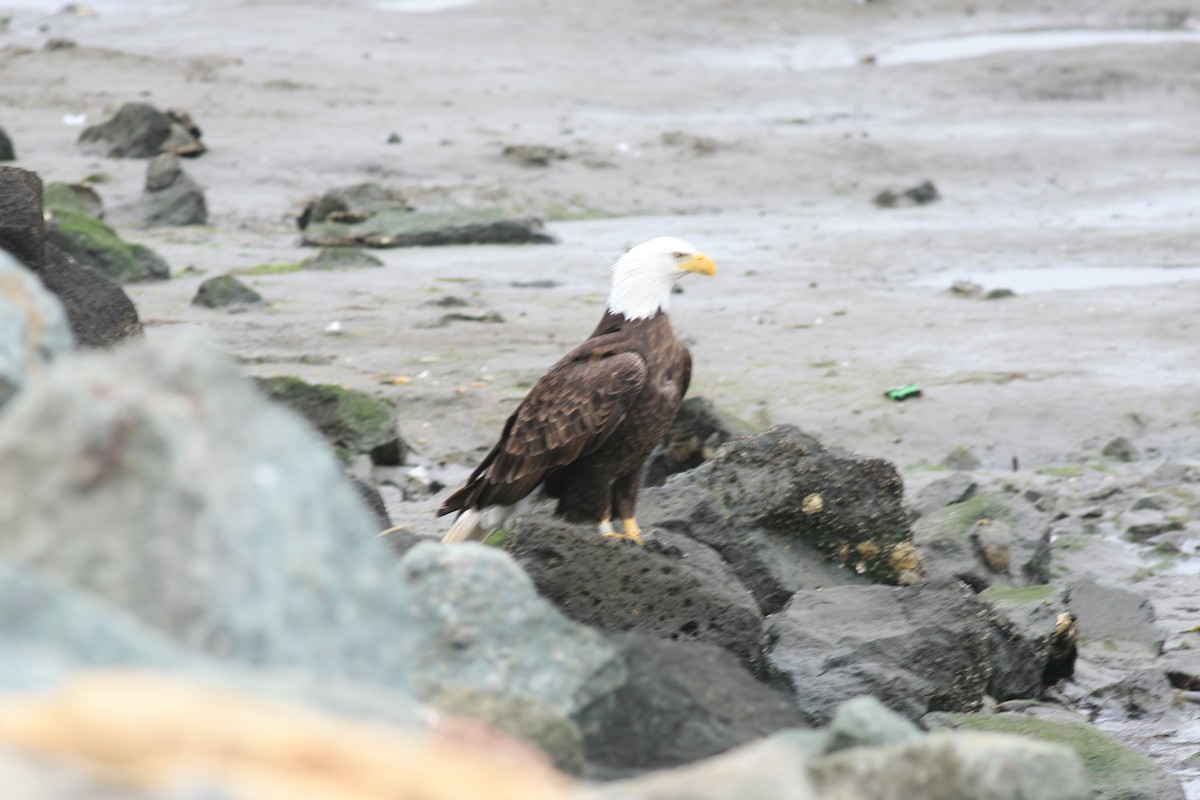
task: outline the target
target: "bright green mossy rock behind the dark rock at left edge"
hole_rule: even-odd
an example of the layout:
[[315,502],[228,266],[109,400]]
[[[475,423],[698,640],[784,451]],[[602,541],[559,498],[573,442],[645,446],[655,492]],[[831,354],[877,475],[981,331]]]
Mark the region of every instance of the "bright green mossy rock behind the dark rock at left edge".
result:
[[49,245],[121,283],[170,276],[167,261],[152,249],[121,240],[115,230],[74,203],[54,205],[55,197],[46,198],[46,210],[53,215],[47,231]]

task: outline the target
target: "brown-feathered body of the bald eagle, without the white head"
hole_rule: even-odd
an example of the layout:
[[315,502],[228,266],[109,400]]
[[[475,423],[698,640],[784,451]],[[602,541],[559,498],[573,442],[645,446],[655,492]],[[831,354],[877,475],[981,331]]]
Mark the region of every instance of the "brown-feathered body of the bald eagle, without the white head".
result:
[[514,506],[541,488],[570,522],[632,518],[642,468],[690,379],[691,355],[666,313],[628,319],[606,309],[529,391],[438,516]]

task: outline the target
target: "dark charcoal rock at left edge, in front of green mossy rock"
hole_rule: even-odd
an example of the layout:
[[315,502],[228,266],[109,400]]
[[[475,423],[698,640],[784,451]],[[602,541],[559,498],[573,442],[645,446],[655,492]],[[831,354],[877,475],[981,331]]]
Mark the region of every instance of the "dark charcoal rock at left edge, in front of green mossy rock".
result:
[[142,323],[128,295],[47,241],[42,181],[35,173],[0,167],[0,249],[11,252],[58,296],[80,347],[110,347],[140,336]]

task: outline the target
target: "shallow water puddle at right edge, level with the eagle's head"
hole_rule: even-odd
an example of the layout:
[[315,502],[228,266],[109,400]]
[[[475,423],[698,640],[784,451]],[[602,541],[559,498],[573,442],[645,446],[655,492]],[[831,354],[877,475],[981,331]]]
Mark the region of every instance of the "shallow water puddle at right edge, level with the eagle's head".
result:
[[936,272],[918,278],[919,287],[949,289],[955,281],[978,283],[985,291],[1012,289],[1016,294],[1034,291],[1078,291],[1116,287],[1148,287],[1184,281],[1200,281],[1200,266],[1056,266],[1049,269]]

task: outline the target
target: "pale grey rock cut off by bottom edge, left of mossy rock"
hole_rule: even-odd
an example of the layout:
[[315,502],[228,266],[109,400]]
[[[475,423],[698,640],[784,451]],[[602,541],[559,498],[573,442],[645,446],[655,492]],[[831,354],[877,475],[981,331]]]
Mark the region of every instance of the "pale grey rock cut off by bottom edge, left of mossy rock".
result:
[[923,736],[814,759],[820,798],[847,800],[1090,800],[1070,748],[990,733]]

